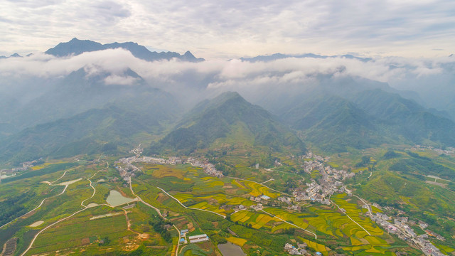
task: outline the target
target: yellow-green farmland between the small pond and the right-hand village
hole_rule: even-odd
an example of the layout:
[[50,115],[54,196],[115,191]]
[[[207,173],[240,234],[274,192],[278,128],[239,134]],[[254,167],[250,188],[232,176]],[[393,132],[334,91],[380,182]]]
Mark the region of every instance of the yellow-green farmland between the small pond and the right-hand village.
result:
[[[150,174],[149,171],[152,168],[157,167],[148,166],[145,173]],[[384,233],[382,229],[364,216],[365,209],[358,206],[357,198],[347,196],[346,193],[336,194],[331,198],[334,203],[346,210],[346,215],[341,213],[334,204],[324,207],[309,205],[306,206],[303,213],[278,207],[265,207],[264,212],[260,212],[249,208],[256,204],[255,201],[250,200],[252,196],[269,196],[273,200],[279,197],[280,193],[253,181],[205,176],[201,169],[195,169],[192,166],[175,166],[173,168],[173,171],[166,171],[167,174],[172,174],[175,181],[168,184],[167,193],[173,195],[185,206],[228,216],[228,222],[217,220],[217,223],[225,223],[217,225],[227,225],[231,230],[234,230],[238,237],[226,236],[224,239],[244,247],[244,250],[253,245],[258,245],[257,242],[259,242],[251,240],[251,236],[248,235],[251,231],[247,232],[248,229],[257,230],[257,235],[261,234],[259,236],[264,237],[273,234],[289,234],[287,235],[289,238],[294,237],[296,240],[308,241],[309,247],[322,252],[323,255],[330,255],[334,245],[338,245],[338,250],[355,252],[356,255],[357,253],[360,255],[392,253],[387,248],[397,246],[394,238]],[[200,215],[201,212],[183,209],[178,206],[178,202],[175,200],[166,198],[161,191],[154,188],[154,184],[159,186],[162,182],[159,179],[151,180],[152,177],[156,178],[153,173],[140,176],[139,186],[135,188],[139,191],[139,195],[147,198],[152,204],[157,203],[159,206],[161,205],[161,208],[167,208],[171,214],[183,213],[187,216],[186,219],[193,219],[193,221],[196,220],[200,223],[200,218],[191,218],[191,216]],[[168,176],[161,179],[166,178]],[[191,189],[182,191],[178,187],[181,183],[191,184]],[[235,210],[235,207],[240,205],[247,208]],[[375,210],[380,211],[380,209]],[[212,218],[217,218],[215,215],[212,216]],[[284,223],[282,220],[286,220],[302,230],[299,231],[296,226]],[[202,232],[213,232],[210,231],[211,228],[208,228],[208,225],[202,223],[201,227]],[[244,230],[245,227],[247,230]],[[368,235],[363,228],[368,230],[371,235]],[[331,247],[326,247],[317,242],[314,240],[314,236],[306,233],[305,230],[318,234],[318,238],[323,239],[324,244],[331,245]],[[239,232],[237,233],[237,231]],[[215,234],[220,235],[218,232]],[[296,234],[299,235],[296,236]],[[276,247],[277,245],[270,244],[269,246],[271,245],[274,246],[273,250],[280,251],[279,247]]]

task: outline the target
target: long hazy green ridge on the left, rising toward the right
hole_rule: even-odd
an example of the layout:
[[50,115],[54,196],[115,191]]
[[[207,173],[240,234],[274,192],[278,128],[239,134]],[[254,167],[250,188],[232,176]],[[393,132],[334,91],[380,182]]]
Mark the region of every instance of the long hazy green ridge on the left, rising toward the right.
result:
[[116,153],[122,146],[139,143],[134,139],[139,134],[161,133],[162,124],[176,118],[176,106],[171,95],[159,90],[139,96],[125,95],[122,102],[38,124],[2,139],[0,161],[16,163],[46,156]]

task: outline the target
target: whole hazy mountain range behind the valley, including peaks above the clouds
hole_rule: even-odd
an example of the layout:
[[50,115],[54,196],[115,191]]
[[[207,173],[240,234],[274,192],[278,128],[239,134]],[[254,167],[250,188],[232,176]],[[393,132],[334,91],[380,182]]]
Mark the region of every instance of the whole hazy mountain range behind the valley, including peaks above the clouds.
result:
[[[65,56],[109,48],[124,48],[148,61],[203,60],[189,52],[152,53],[137,43],[103,45],[76,38],[46,53],[68,58]],[[287,56],[258,56],[244,61]],[[385,82],[320,74],[314,76],[317,83],[310,87],[271,87],[254,93],[240,87],[239,92],[221,90],[213,97],[209,95],[215,91],[203,83],[191,83],[194,77],[178,78],[188,79],[189,84],[180,94],[166,90],[168,84],[155,87],[153,80],[142,78],[131,68],[92,74],[85,67],[50,78],[2,77],[1,82],[11,84],[14,90],[0,95],[0,161],[11,164],[101,151],[117,154],[139,143],[149,145],[149,154],[193,154],[225,148],[242,154],[302,154],[305,143],[326,152],[381,144],[455,146],[451,114],[424,107],[414,92],[396,90]],[[112,82],[112,78],[119,79]],[[216,75],[199,81],[207,84],[213,79]],[[127,85],[122,84],[124,80]],[[27,85],[31,83],[39,86],[30,89]],[[182,104],[191,102],[191,97],[193,102],[205,100]]]

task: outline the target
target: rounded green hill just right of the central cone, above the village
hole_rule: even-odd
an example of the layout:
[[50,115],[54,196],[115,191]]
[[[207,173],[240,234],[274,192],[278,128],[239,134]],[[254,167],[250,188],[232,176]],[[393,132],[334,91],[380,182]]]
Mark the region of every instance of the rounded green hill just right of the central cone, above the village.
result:
[[363,149],[384,140],[368,114],[341,97],[318,97],[303,102],[282,117],[324,151]]

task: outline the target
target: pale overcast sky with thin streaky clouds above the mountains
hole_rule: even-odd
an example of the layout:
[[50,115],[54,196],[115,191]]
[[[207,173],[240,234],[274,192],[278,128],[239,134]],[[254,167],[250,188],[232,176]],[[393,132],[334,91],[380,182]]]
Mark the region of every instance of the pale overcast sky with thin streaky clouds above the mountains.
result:
[[455,53],[453,0],[0,0],[0,10],[0,55],[43,52],[74,37],[205,59]]

